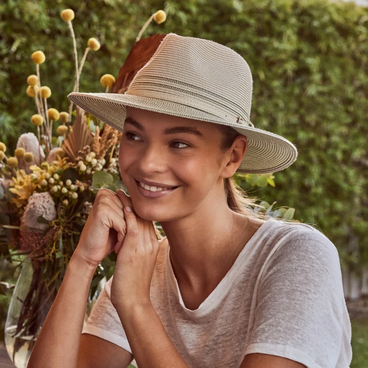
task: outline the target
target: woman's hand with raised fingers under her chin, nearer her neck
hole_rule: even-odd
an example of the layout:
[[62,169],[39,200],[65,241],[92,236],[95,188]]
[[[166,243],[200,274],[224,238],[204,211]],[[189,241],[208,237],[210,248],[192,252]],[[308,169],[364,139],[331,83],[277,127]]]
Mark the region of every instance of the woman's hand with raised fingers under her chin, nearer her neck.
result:
[[124,205],[127,234],[116,250],[110,299],[115,309],[123,312],[151,304],[150,286],[159,243],[153,222],[133,212],[131,197],[123,190],[119,189],[116,194]]

